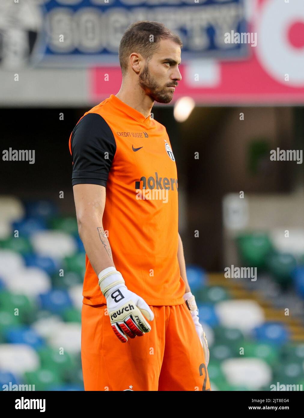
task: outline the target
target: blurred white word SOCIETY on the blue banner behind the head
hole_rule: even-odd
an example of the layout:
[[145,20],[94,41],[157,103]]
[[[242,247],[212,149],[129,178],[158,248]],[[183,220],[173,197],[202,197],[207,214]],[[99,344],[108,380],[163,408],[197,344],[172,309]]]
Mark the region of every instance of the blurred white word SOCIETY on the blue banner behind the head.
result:
[[[103,9],[104,10],[104,9]],[[156,7],[148,9],[137,7],[124,9],[111,7],[101,11],[86,7],[73,12],[70,8],[54,8],[47,14],[49,28],[49,48],[56,53],[70,53],[75,48],[81,52],[101,52],[106,49],[117,53],[119,42],[127,26],[138,20],[163,22],[177,33],[188,51],[204,51],[210,46],[207,28],[215,31],[214,42],[217,48],[228,50],[231,45],[224,42],[224,33],[237,28],[243,19],[241,5],[229,4],[220,8],[204,7]],[[185,36],[180,28],[185,28]],[[59,42],[59,36],[64,42]]]

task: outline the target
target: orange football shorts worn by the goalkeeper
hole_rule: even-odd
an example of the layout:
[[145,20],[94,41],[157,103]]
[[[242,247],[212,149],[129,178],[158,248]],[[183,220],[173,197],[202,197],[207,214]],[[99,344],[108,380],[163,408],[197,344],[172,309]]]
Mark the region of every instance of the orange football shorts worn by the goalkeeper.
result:
[[151,331],[122,343],[111,328],[106,305],[82,305],[85,390],[211,390],[203,348],[186,304],[150,308]]

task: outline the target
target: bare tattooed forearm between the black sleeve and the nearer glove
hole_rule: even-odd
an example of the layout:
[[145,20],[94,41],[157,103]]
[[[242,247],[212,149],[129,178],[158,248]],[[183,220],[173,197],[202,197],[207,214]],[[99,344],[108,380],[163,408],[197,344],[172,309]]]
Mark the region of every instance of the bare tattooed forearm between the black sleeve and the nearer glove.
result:
[[97,184],[73,186],[78,231],[96,275],[114,266],[111,247],[102,225],[106,188]]

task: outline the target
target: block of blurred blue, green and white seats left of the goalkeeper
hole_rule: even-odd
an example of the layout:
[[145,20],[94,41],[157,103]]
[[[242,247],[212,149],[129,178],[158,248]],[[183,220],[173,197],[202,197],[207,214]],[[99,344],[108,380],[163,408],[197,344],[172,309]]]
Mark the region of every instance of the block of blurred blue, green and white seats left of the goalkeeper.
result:
[[[80,322],[85,253],[76,218],[57,214],[52,201],[0,198],[5,224],[0,235],[3,385],[84,390]],[[19,236],[12,234],[15,230]]]

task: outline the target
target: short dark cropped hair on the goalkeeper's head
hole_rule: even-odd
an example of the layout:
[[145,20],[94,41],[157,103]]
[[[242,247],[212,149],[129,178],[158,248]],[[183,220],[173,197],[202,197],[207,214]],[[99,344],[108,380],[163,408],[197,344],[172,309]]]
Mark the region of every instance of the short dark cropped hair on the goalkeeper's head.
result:
[[[153,42],[150,41],[151,35],[153,35]],[[132,52],[141,54],[149,62],[159,47],[161,39],[170,39],[182,48],[180,37],[172,33],[163,23],[142,20],[130,25],[119,44],[119,64],[122,75],[127,71],[128,59]]]

